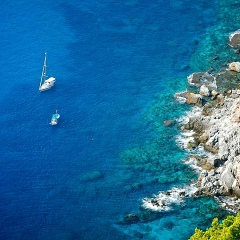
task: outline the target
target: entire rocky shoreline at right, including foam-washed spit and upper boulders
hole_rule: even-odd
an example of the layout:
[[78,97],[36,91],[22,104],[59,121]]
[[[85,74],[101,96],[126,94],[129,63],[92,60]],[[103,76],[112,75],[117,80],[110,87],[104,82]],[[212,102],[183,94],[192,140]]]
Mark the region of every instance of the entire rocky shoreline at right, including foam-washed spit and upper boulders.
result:
[[[197,181],[143,199],[141,213],[126,215],[120,224],[153,221],[186,197],[214,197],[224,209],[239,211],[240,30],[229,35],[228,46],[239,62],[229,59],[218,71],[209,67],[206,72],[195,72],[188,76],[187,90],[175,94],[181,103],[199,108],[198,114],[193,109],[193,117],[179,126],[188,141],[184,146],[189,150],[186,162],[194,162],[200,171]],[[163,122],[167,127],[173,123],[175,120]]]

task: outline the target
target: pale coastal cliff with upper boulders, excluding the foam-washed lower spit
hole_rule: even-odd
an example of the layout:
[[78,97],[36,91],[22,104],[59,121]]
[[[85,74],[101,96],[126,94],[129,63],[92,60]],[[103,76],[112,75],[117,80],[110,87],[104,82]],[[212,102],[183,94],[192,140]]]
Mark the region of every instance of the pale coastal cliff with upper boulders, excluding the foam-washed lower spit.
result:
[[[229,46],[240,47],[239,32]],[[238,49],[233,49],[239,53]],[[202,167],[196,195],[240,197],[240,62],[229,62],[220,71],[193,73],[188,77],[186,103],[200,107],[183,131],[193,130],[189,148],[202,146],[207,156],[193,155]]]

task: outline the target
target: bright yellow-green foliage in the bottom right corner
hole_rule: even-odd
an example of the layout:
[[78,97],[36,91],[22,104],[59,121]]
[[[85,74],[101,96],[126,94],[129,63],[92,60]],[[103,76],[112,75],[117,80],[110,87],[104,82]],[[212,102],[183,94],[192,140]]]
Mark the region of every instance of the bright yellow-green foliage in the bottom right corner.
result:
[[212,225],[206,231],[198,228],[190,240],[239,240],[240,239],[240,212],[237,216],[228,216],[222,222],[214,218]]

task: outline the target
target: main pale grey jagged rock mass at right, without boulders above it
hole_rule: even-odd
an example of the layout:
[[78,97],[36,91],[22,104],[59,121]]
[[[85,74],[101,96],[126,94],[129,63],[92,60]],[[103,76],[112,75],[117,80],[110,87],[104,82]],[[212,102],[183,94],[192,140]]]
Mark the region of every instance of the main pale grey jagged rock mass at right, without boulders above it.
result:
[[212,153],[207,162],[215,170],[199,178],[198,194],[240,196],[240,101],[233,94],[225,95],[208,116],[196,116],[184,125],[184,130],[198,133],[198,142]]

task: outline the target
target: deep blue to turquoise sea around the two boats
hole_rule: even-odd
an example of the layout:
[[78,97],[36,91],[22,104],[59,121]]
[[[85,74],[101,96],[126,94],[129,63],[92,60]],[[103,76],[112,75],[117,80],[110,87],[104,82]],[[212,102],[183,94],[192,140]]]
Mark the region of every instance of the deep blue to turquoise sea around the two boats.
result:
[[[157,213],[143,203],[198,178],[179,127],[191,107],[174,94],[228,57],[239,10],[236,0],[2,0],[0,239],[185,240],[229,214],[207,197],[172,196]],[[57,81],[39,92],[45,52]]]

